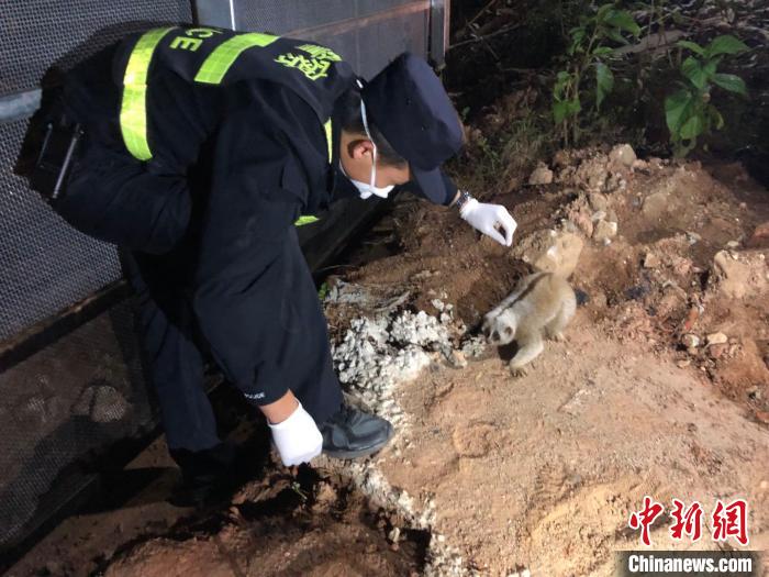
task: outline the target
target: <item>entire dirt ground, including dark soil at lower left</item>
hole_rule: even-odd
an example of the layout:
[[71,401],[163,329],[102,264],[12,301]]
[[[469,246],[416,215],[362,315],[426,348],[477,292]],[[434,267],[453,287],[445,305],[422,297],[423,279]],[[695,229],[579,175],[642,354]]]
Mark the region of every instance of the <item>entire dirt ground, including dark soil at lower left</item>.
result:
[[[425,345],[415,377],[364,396],[402,417],[374,459],[267,466],[202,513],[144,502],[167,495],[164,475],[121,512],[57,529],[10,575],[608,576],[615,551],[640,548],[628,517],[647,495],[705,512],[696,543],[672,541],[664,515],[653,548],[743,548],[713,542],[707,520],[736,498],[747,548],[769,548],[769,196],[738,165],[628,154],[558,153],[540,185],[480,191],[519,222],[512,248],[404,199],[330,279],[336,347],[382,310],[452,328],[453,364]],[[460,353],[537,268],[573,269],[566,341],[522,377],[514,347]]]

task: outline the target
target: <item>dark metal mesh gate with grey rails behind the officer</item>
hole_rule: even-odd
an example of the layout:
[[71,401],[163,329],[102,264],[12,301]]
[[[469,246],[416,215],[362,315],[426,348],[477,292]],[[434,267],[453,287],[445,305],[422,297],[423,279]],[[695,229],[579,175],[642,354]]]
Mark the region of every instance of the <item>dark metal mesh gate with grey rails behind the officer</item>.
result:
[[[448,1],[19,0],[0,14],[0,557],[92,479],[93,457],[156,425],[114,246],[62,221],[15,174],[41,87],[158,23],[315,40],[370,77],[403,51],[443,60]],[[311,267],[366,220],[350,201],[300,230]],[[2,563],[0,563],[2,568]]]

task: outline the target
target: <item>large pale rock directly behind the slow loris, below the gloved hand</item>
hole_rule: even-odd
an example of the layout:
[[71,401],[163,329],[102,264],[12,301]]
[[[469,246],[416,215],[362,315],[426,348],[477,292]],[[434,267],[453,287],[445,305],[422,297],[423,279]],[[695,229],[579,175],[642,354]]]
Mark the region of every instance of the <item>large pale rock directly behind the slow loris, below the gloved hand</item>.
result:
[[569,277],[577,267],[583,246],[582,238],[576,234],[542,230],[519,243],[511,251],[511,256],[533,265],[537,270]]

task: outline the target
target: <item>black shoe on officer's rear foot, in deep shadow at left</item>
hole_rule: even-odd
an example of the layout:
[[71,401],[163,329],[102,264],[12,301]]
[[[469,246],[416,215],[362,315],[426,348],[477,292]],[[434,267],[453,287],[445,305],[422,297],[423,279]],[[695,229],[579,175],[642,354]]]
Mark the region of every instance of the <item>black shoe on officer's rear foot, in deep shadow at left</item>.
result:
[[238,447],[229,442],[204,451],[171,451],[181,469],[181,484],[169,499],[177,507],[209,507],[230,499],[242,485]]

